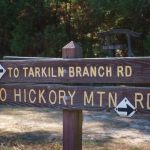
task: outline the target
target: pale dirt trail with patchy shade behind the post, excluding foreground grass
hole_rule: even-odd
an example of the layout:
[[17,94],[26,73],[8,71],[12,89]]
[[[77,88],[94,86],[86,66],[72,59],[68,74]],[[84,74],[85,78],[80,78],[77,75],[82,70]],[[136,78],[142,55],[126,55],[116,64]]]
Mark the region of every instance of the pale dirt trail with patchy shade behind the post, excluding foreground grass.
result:
[[[61,141],[62,111],[0,106],[0,143],[15,138],[34,142]],[[116,113],[84,111],[83,141],[95,140],[148,146],[150,115],[122,118]]]

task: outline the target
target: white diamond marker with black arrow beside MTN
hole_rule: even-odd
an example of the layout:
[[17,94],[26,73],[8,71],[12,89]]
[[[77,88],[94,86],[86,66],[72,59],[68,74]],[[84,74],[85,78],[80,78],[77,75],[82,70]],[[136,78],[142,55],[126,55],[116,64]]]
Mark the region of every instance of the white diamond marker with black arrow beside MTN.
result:
[[136,112],[136,108],[130,103],[130,101],[125,97],[115,108],[118,115],[123,117],[131,117]]

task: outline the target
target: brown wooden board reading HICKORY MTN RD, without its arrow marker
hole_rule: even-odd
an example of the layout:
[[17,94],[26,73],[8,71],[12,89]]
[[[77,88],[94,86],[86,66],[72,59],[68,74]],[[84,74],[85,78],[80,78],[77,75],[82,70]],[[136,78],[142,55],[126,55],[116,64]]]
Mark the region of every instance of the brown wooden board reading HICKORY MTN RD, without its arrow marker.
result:
[[124,99],[140,112],[150,112],[150,87],[93,87],[1,84],[0,104],[60,109],[105,110]]

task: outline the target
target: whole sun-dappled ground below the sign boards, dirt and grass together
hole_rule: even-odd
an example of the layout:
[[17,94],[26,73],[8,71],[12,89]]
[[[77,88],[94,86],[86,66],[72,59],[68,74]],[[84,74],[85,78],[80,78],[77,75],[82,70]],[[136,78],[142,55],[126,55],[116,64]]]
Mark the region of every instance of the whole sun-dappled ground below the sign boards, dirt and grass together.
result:
[[[83,112],[83,150],[150,150],[150,115]],[[62,111],[0,106],[0,150],[61,150]]]

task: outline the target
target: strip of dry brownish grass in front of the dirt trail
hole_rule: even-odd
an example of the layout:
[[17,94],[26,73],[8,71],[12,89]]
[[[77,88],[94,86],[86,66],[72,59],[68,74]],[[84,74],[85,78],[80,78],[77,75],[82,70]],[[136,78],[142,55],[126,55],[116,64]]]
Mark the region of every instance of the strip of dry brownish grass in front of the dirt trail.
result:
[[[25,143],[23,141],[7,142],[0,145],[0,150],[62,150],[62,143]],[[83,150],[150,150],[148,145],[143,147],[131,146],[125,143],[101,143],[100,141],[83,141]]]

